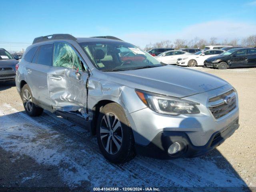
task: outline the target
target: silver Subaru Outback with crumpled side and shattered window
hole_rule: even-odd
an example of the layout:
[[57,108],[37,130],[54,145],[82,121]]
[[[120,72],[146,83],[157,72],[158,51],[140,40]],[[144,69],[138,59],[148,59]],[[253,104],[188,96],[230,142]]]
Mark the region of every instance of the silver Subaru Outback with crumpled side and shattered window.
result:
[[28,115],[45,109],[86,125],[113,163],[200,156],[239,127],[228,82],[163,64],[113,36],[38,37],[16,67]]

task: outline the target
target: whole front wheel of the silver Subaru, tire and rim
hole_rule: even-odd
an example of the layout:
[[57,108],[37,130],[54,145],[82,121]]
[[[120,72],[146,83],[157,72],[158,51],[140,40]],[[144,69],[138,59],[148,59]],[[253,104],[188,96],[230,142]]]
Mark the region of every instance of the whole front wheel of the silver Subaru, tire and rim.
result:
[[106,104],[97,122],[97,140],[103,156],[112,163],[124,163],[134,158],[134,136],[122,107]]

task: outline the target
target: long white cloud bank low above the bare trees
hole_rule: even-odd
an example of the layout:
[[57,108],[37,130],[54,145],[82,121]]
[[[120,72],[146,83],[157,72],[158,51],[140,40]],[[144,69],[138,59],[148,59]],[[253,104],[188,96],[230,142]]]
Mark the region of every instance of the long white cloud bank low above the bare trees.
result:
[[[177,27],[175,27],[177,29]],[[154,43],[160,40],[171,40],[174,42],[176,38],[192,39],[194,37],[209,40],[216,37],[218,41],[224,39],[244,38],[256,33],[256,24],[234,21],[210,21],[199,24],[190,25],[180,28],[178,32],[143,32],[123,34],[119,38],[138,45],[142,48],[150,42]]]

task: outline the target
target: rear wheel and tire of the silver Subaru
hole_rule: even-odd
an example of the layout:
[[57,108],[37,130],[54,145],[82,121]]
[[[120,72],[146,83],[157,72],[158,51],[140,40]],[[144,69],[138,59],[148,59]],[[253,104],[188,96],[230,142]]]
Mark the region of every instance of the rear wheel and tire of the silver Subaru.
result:
[[21,99],[23,102],[23,106],[25,108],[26,113],[29,116],[35,117],[35,116],[40,116],[42,112],[44,111],[43,108],[37,107],[34,104],[34,98],[32,96],[32,92],[28,86],[28,84],[25,84],[22,87],[22,92],[21,92]]

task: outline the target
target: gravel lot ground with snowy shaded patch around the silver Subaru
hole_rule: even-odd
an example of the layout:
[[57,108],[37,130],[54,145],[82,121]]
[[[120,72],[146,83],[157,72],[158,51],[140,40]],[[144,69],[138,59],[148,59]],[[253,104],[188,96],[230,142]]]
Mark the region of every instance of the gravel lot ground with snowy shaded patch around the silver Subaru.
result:
[[49,112],[35,118],[26,115],[15,83],[0,83],[0,186],[191,187],[188,191],[194,187],[216,191],[206,186],[256,187],[256,68],[194,69],[219,76],[236,88],[240,128],[200,158],[136,156],[122,165],[104,159],[96,137],[86,128]]

